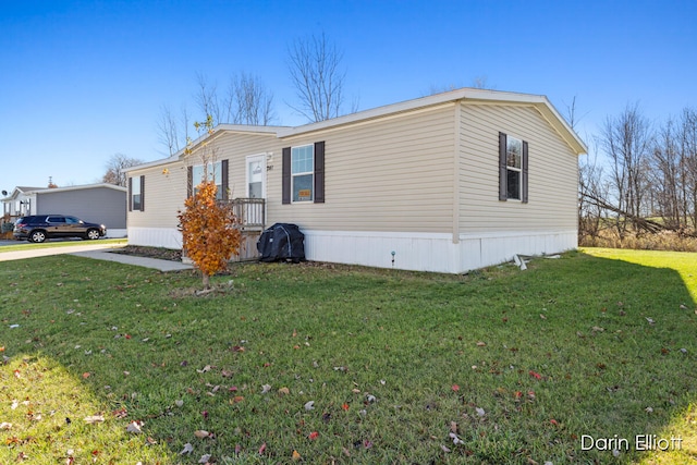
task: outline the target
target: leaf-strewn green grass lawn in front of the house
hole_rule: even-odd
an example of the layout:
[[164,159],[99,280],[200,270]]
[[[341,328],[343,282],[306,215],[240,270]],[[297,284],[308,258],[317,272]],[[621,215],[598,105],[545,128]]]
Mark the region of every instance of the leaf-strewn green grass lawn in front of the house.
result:
[[250,264],[212,281],[193,296],[191,272],[0,262],[0,463],[697,457],[695,254],[585,249],[466,277]]

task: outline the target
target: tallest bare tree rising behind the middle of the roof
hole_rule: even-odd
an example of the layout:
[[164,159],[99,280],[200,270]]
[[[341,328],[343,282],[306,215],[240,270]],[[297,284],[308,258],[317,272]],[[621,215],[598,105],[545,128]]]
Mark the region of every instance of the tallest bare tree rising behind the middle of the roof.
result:
[[291,106],[310,122],[335,118],[344,103],[343,53],[327,36],[296,39],[289,50],[289,71],[298,105]]

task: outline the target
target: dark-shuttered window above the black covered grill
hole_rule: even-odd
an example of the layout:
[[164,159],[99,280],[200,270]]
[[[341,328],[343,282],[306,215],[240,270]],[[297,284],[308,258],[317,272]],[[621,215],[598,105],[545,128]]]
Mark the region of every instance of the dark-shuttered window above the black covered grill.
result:
[[283,148],[282,203],[325,203],[325,143]]

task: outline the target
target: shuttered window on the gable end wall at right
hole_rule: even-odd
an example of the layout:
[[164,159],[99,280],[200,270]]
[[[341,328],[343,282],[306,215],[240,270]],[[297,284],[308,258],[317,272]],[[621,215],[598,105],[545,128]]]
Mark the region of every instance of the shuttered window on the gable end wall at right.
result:
[[527,203],[527,143],[499,133],[499,200]]

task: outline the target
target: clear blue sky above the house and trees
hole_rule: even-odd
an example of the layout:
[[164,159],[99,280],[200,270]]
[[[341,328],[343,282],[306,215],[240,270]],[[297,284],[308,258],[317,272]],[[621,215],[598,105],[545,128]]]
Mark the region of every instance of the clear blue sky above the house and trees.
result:
[[628,103],[657,124],[697,107],[696,23],[692,0],[0,0],[0,191],[99,182],[118,152],[163,158],[161,107],[193,111],[197,74],[254,74],[276,123],[302,124],[288,49],[322,32],[360,110],[484,77],[562,114],[576,97],[592,146]]

